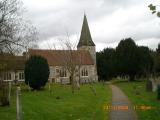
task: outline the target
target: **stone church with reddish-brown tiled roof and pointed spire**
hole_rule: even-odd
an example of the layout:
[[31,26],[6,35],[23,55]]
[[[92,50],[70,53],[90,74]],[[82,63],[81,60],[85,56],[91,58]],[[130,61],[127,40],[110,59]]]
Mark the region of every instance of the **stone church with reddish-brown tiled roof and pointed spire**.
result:
[[[75,65],[74,79],[80,83],[96,82],[98,80],[96,68],[96,48],[92,41],[87,17],[84,15],[83,25],[77,50],[44,50],[29,49],[28,57],[40,55],[47,59],[50,67],[49,80],[52,82],[69,83],[70,72],[66,64]],[[72,55],[72,56],[71,56]],[[67,63],[72,61],[72,63]]]

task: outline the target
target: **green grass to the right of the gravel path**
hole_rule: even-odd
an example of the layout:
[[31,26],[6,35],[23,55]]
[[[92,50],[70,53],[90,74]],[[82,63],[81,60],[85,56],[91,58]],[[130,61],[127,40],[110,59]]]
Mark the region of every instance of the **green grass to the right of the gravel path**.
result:
[[[160,101],[157,101],[156,92],[146,92],[145,82],[119,82],[118,85],[129,97],[132,104],[137,106],[136,112],[139,120],[160,120]],[[140,95],[135,94],[134,88],[138,86]],[[151,106],[151,110],[141,109],[141,106]]]

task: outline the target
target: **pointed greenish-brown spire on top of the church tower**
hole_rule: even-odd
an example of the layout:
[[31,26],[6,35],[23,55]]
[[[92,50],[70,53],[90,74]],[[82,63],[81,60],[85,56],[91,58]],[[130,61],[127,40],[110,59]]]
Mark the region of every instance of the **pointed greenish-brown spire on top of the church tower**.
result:
[[81,46],[95,46],[94,42],[92,41],[92,37],[90,34],[88,22],[87,22],[87,17],[85,14],[83,19],[81,36],[80,36],[80,40],[77,47],[81,47]]

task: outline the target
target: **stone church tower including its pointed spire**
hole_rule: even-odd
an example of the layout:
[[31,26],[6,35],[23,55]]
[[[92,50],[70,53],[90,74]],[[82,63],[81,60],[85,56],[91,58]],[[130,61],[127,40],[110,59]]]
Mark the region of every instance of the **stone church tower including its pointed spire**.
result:
[[77,45],[78,50],[87,50],[89,51],[93,61],[94,61],[94,80],[98,80],[97,76],[97,65],[96,65],[96,48],[95,44],[92,41],[91,33],[89,30],[88,22],[87,22],[87,17],[84,14],[84,19],[83,19],[83,25],[81,29],[81,35],[80,35],[80,40]]

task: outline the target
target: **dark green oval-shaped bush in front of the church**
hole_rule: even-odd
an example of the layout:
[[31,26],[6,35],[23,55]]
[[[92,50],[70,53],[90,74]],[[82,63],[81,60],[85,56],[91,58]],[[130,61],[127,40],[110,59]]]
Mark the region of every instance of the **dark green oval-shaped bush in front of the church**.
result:
[[33,89],[45,86],[49,77],[47,60],[42,56],[31,56],[25,64],[25,83]]

